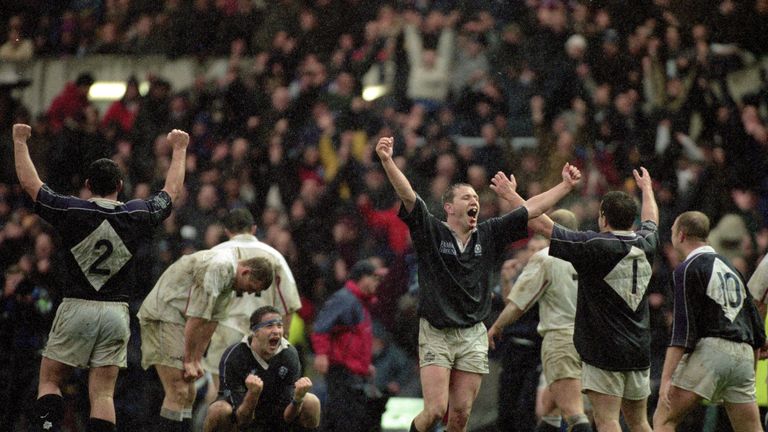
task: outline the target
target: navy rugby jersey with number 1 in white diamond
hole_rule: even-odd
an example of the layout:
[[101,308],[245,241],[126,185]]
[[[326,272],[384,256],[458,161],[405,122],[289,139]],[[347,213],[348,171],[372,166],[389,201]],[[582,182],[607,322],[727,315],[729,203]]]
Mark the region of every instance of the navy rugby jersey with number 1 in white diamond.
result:
[[635,232],[555,225],[549,255],[579,274],[573,342],[590,365],[612,371],[651,366],[647,289],[658,241],[652,221]]

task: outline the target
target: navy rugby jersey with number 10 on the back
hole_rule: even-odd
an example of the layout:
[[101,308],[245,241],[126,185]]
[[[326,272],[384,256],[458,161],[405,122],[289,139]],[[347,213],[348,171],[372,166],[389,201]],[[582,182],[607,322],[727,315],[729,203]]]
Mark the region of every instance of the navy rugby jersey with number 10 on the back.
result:
[[711,246],[692,251],[674,273],[671,346],[693,351],[699,339],[718,337],[759,348],[763,321],[744,279]]

